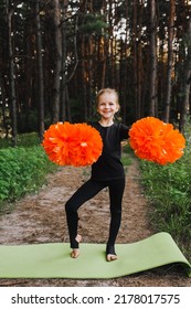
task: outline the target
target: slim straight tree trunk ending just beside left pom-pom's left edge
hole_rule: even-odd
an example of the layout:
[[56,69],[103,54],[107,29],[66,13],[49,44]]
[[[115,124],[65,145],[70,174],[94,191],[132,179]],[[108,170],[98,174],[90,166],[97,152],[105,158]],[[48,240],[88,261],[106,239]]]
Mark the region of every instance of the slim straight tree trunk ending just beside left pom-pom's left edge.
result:
[[40,0],[35,2],[35,25],[36,25],[36,60],[38,60],[38,79],[39,79],[39,137],[43,140],[44,134],[44,77],[42,62],[42,38],[40,20]]

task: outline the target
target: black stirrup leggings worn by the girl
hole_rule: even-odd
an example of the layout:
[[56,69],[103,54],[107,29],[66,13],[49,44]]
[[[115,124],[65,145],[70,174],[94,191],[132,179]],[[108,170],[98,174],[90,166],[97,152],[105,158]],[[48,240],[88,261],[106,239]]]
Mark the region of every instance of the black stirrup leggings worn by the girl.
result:
[[89,199],[94,198],[106,187],[109,189],[110,200],[110,226],[106,253],[115,254],[114,245],[121,222],[121,200],[125,188],[125,178],[110,181],[94,181],[89,179],[66,202],[65,211],[72,248],[78,248],[78,243],[75,239],[77,235],[78,207]]

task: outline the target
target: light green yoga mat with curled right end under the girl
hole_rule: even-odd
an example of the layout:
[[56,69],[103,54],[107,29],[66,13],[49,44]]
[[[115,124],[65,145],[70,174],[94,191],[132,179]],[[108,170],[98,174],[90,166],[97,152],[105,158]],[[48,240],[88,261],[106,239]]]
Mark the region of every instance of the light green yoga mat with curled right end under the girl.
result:
[[0,278],[115,278],[180,263],[188,276],[191,265],[168,233],[132,244],[116,244],[118,259],[106,262],[105,244],[81,244],[78,258],[70,245],[33,244],[0,246]]

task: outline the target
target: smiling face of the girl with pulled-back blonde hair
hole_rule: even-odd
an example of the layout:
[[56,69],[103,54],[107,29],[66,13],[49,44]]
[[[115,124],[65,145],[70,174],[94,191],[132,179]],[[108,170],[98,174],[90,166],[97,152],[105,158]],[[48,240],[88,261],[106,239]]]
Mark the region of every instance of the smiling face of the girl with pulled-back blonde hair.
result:
[[113,120],[114,115],[119,110],[115,93],[104,93],[99,96],[97,111],[105,120]]

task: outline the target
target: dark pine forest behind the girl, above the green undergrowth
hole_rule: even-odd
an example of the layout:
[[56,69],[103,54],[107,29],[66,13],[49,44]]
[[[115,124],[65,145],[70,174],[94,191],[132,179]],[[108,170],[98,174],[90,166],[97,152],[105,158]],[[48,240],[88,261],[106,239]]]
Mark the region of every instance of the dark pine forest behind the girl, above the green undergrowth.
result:
[[119,92],[125,124],[190,115],[191,1],[1,0],[1,135],[96,117],[95,95]]

